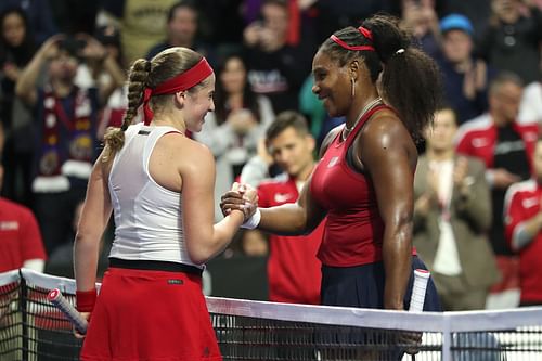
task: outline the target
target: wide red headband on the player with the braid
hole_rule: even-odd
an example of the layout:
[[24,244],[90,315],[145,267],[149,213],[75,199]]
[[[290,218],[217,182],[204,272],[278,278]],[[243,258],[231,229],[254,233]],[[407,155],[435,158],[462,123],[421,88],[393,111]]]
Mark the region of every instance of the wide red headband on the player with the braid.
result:
[[207,63],[205,57],[202,57],[202,60],[196,65],[194,65],[186,72],[164,81],[154,89],[151,89],[149,87],[145,88],[145,91],[143,93],[143,113],[145,116],[144,125],[149,126],[151,124],[151,120],[153,120],[153,111],[151,111],[151,107],[149,107],[149,101],[151,100],[151,96],[172,94],[178,91],[188,90],[202,82],[211,74],[212,68],[210,67],[209,63]]

